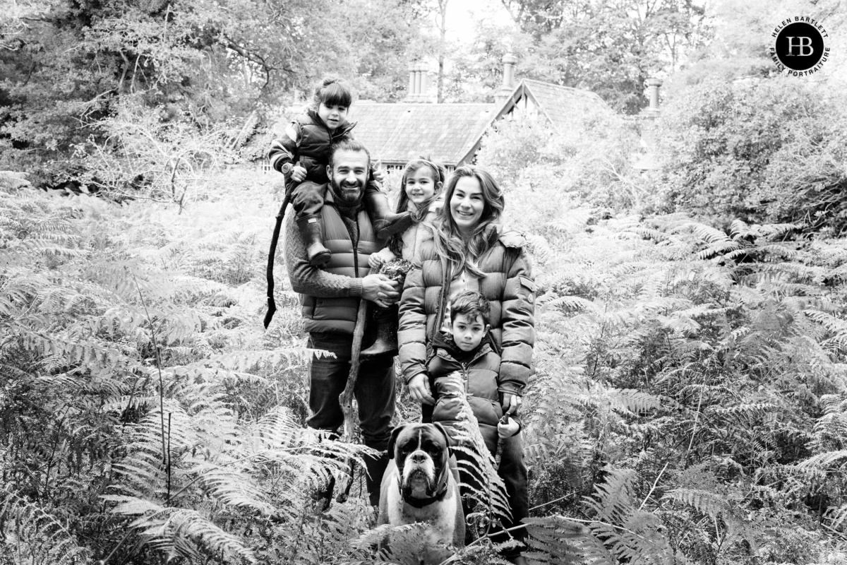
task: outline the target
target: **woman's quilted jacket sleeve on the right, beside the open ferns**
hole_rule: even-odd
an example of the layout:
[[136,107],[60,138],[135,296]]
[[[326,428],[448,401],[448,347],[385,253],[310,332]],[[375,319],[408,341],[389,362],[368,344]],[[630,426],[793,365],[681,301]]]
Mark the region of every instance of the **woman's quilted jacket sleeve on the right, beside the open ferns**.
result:
[[523,249],[507,273],[503,291],[502,362],[497,389],[520,395],[527,385],[535,345],[535,281]]

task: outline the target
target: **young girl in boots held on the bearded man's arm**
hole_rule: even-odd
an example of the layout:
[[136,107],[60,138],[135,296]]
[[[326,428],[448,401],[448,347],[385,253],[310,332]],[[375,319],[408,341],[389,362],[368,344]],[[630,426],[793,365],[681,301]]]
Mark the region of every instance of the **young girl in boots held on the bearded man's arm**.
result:
[[[397,200],[397,214],[410,213],[412,225],[391,238],[382,251],[368,258],[368,264],[375,273],[386,273],[395,263],[396,258],[402,258],[413,263],[418,258],[421,244],[432,239],[432,231],[428,227],[435,221],[440,208],[444,205],[441,189],[447,171],[440,163],[426,158],[418,158],[406,163],[400,181],[400,198]],[[408,263],[396,265],[402,271],[402,276],[409,268]],[[379,269],[379,270],[376,270]],[[395,269],[396,270],[396,269]],[[399,280],[399,279],[398,279]],[[400,280],[402,284],[402,280]],[[374,344],[362,352],[363,357],[397,352],[397,307],[379,308],[374,311],[377,324],[377,338]]]

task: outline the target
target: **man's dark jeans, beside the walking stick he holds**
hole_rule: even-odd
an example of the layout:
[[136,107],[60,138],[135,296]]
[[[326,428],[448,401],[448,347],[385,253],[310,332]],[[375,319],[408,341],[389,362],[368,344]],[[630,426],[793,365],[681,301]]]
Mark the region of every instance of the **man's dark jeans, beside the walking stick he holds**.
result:
[[[338,396],[350,375],[352,335],[313,332],[309,347],[335,353],[336,358],[314,356],[309,369],[310,428],[335,431],[344,424]],[[359,425],[364,444],[379,451],[388,448],[391,417],[394,415],[394,357],[383,355],[362,360],[353,394],[359,407]],[[381,477],[380,477],[381,479]]]

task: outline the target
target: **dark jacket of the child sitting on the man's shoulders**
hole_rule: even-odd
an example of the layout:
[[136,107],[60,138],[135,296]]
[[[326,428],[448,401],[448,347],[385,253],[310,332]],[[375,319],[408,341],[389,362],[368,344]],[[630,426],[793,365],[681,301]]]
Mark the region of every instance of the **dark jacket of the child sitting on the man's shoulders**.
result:
[[[300,159],[301,166],[306,169],[306,180],[323,185],[329,182],[326,166],[329,164],[329,148],[342,137],[350,136],[354,123],[345,122],[330,133],[329,128],[313,109],[295,120],[295,131],[299,131],[299,140],[289,136],[274,139],[271,143],[268,159],[276,170],[285,163],[296,163]],[[299,142],[299,143],[298,143]]]

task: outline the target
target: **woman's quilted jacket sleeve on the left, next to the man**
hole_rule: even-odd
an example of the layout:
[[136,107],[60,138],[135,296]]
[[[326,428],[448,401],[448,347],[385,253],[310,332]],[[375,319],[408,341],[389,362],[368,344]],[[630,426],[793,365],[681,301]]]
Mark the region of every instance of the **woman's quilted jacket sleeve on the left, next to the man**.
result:
[[400,300],[400,369],[403,381],[408,384],[412,377],[426,374],[426,311],[424,310],[424,271],[416,261],[406,275]]

